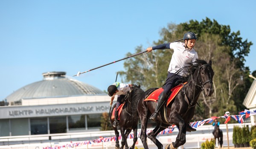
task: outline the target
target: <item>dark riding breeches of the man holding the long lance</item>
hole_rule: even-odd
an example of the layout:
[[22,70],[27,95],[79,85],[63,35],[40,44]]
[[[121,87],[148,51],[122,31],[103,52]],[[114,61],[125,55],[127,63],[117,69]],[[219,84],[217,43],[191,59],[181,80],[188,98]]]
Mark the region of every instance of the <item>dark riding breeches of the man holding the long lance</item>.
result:
[[171,89],[175,87],[176,81],[180,79],[181,79],[180,75],[168,72],[166,82],[163,85],[163,92],[166,93],[167,97],[171,95],[172,93]]

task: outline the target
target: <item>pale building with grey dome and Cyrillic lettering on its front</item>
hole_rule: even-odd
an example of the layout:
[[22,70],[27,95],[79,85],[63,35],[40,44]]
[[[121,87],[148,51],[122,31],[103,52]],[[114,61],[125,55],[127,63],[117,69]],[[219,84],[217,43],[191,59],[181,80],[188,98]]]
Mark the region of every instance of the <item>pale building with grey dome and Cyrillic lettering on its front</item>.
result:
[[23,86],[0,106],[0,136],[97,131],[110,97],[66,72],[43,73],[43,80]]

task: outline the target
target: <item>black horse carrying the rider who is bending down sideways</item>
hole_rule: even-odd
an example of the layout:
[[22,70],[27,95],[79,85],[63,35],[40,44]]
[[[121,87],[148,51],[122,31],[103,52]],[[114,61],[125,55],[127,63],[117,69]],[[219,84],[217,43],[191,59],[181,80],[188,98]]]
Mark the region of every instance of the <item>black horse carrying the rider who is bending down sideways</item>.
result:
[[[137,142],[137,127],[138,127],[138,111],[137,111],[137,103],[139,100],[143,100],[145,97],[145,92],[140,89],[140,85],[133,85],[131,87],[131,92],[128,94],[128,96],[125,96],[125,103],[122,107],[122,112],[119,115],[119,127],[120,132],[122,136],[122,146],[121,149],[125,146],[125,149],[129,149],[127,144],[127,137],[130,134],[131,130],[134,131],[134,143],[131,146],[130,149],[134,149],[135,143]],[[113,109],[116,107],[116,105],[113,106],[111,113],[113,113]],[[114,117],[110,117],[111,124],[114,122]],[[112,126],[113,127],[113,126]],[[117,127],[113,127],[115,134],[116,134],[116,149],[119,149],[119,132],[117,130]]]

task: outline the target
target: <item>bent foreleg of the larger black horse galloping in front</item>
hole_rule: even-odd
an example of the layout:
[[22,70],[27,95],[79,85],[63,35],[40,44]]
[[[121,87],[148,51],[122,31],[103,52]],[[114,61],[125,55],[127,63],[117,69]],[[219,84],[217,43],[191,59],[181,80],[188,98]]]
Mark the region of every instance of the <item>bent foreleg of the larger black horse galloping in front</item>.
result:
[[178,135],[176,137],[175,142],[172,142],[172,144],[166,145],[166,149],[176,149],[177,147],[183,145],[186,143],[186,123],[184,123],[184,120],[177,112],[174,112],[171,114],[172,117],[169,118],[171,123],[174,123],[178,129]]

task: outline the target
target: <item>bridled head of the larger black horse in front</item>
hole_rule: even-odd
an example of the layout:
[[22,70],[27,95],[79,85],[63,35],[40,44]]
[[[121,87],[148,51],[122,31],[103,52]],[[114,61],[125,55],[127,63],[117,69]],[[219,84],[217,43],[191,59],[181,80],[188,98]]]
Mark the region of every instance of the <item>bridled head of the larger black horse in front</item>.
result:
[[214,89],[212,88],[212,79],[214,72],[212,70],[212,61],[207,63],[204,60],[197,59],[194,63],[190,63],[190,70],[192,71],[192,79],[195,85],[201,87],[207,96],[211,96]]

